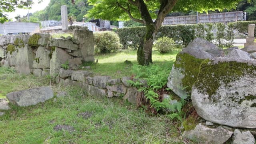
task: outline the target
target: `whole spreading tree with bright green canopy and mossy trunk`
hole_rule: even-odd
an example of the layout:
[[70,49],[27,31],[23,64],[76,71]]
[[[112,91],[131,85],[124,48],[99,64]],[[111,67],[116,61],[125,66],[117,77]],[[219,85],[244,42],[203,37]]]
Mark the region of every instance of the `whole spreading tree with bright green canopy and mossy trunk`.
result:
[[[141,65],[152,63],[152,45],[164,17],[171,11],[190,10],[208,12],[236,8],[241,0],[88,0],[93,6],[90,18],[104,20],[133,20],[146,25],[144,42],[138,48],[137,60]],[[154,19],[154,20],[153,20]]]

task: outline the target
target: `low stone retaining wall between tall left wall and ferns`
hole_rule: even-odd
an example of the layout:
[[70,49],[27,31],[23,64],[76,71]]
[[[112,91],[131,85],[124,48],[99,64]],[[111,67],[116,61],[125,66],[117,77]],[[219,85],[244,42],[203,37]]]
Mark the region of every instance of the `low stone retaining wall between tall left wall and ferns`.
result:
[[93,76],[86,70],[64,70],[61,68],[56,82],[64,86],[80,86],[92,96],[108,98],[123,97],[136,103],[137,89],[127,83],[130,77],[112,79],[110,76]]

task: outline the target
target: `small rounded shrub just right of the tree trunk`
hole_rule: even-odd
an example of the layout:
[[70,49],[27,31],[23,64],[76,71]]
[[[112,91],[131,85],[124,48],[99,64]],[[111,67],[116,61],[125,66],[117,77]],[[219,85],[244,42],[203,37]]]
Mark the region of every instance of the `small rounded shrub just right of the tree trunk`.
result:
[[154,48],[160,53],[172,52],[176,48],[176,44],[172,38],[166,36],[158,38],[154,43]]

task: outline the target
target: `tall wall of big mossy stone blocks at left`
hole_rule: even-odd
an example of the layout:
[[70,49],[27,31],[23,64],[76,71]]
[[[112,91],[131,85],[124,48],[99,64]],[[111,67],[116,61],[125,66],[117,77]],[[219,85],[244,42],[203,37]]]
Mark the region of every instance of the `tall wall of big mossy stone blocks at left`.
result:
[[82,61],[94,62],[91,31],[75,30],[73,38],[51,38],[42,33],[0,37],[0,66],[14,67],[22,74],[54,76],[61,64],[68,62],[76,70]]

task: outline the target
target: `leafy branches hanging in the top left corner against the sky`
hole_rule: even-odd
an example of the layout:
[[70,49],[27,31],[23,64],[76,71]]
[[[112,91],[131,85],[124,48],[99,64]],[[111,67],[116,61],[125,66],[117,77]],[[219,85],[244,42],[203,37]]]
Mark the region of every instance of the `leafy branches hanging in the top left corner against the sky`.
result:
[[32,0],[0,0],[0,23],[8,21],[6,12],[14,12],[16,8],[30,8]]

